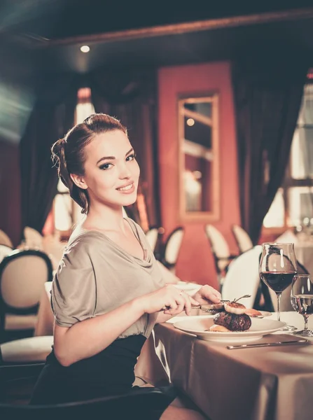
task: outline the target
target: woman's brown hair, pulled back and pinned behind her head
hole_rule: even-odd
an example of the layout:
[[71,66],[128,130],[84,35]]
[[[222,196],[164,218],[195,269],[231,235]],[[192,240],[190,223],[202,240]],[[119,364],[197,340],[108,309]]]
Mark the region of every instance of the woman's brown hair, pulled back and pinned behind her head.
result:
[[75,125],[64,138],[59,139],[51,148],[52,160],[57,168],[57,174],[69,188],[72,199],[81,207],[82,213],[87,213],[89,198],[87,190],[76,186],[70,174],[83,176],[85,173],[85,146],[97,134],[121,130],[127,135],[126,128],[114,117],[104,113],[92,114],[83,123]]

